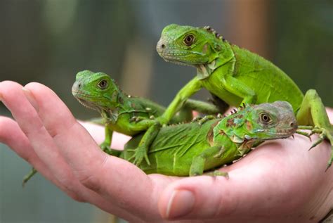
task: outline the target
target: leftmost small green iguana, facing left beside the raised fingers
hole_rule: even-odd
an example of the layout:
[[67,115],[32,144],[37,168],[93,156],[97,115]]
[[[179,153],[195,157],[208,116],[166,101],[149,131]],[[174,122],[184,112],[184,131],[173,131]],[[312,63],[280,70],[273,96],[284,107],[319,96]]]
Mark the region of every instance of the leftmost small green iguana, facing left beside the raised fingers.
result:
[[[151,119],[164,113],[163,106],[146,98],[129,96],[119,89],[110,76],[103,72],[89,70],[77,73],[76,81],[72,86],[72,94],[82,105],[98,110],[102,115],[103,120],[95,119],[94,122],[105,125],[105,141],[100,144],[100,148],[106,153],[112,155],[119,153],[110,149],[113,131],[133,136],[148,129],[129,160],[133,159],[133,163],[139,165],[145,158],[149,163],[147,150],[159,129],[156,122]],[[180,113],[171,119],[171,123],[190,122],[192,108],[205,114],[217,114],[219,111],[212,104],[188,100]],[[36,172],[32,168],[32,171],[23,179],[23,185]]]

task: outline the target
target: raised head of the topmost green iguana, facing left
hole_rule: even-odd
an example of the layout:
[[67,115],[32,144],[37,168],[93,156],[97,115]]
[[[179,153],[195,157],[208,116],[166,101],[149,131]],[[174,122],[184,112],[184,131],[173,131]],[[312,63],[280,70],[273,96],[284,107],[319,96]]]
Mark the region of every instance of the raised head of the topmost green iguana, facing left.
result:
[[164,27],[156,49],[166,61],[199,67],[218,57],[223,41],[210,27],[171,24]]

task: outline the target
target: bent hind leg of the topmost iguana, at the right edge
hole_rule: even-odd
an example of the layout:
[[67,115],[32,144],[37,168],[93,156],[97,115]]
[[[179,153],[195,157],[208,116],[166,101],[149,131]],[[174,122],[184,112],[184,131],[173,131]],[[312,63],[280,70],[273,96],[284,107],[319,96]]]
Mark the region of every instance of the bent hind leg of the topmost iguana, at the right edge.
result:
[[314,89],[306,91],[296,118],[299,125],[312,125],[314,127],[313,131],[320,134],[319,141],[315,141],[311,148],[318,145],[322,139],[327,139],[330,142],[331,157],[329,158],[327,168],[330,167],[333,160],[333,126],[329,122],[325,106],[317,91]]

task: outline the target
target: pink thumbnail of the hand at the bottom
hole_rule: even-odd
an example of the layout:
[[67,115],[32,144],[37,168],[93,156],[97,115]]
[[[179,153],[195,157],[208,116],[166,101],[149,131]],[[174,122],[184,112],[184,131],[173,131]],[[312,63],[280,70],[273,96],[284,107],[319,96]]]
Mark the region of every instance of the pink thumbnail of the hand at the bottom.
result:
[[193,209],[194,204],[195,197],[191,191],[176,190],[171,194],[166,207],[166,217],[173,219],[187,215]]

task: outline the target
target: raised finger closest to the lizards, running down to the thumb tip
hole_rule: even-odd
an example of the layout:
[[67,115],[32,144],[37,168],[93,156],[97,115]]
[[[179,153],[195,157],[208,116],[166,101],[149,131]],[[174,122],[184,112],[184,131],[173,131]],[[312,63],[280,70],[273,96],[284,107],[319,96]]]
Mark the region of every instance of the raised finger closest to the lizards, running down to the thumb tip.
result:
[[[147,200],[152,184],[144,172],[125,160],[103,153],[51,89],[37,83],[27,84],[25,88],[32,92],[39,106],[39,117],[81,184],[135,215],[147,217],[150,212],[149,217],[154,214],[159,217],[157,200]],[[73,139],[80,140],[72,144]],[[142,200],[146,202],[143,204]]]

